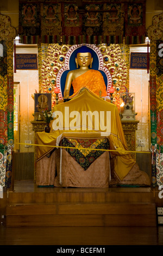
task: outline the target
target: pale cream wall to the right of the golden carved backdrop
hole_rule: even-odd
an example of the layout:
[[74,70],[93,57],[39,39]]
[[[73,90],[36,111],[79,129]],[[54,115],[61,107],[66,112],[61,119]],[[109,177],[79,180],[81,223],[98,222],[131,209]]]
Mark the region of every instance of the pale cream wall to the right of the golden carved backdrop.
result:
[[[130,52],[147,52],[147,47],[130,47]],[[135,93],[136,120],[139,120],[136,131],[136,151],[149,151],[149,74],[147,70],[129,70],[129,92]],[[144,146],[138,145],[142,139]]]

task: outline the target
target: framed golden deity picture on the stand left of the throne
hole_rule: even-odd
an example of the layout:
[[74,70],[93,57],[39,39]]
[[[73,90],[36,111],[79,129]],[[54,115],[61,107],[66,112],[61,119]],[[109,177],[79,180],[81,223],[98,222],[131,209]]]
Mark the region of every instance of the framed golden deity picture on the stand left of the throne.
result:
[[34,94],[35,113],[52,110],[52,94],[51,93],[35,93]]

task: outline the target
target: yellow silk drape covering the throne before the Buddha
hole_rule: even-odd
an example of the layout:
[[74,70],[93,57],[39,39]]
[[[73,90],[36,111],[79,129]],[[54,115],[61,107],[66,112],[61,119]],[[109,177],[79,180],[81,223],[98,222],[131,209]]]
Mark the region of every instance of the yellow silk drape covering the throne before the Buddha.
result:
[[[69,113],[73,113],[73,111],[80,113],[80,120],[78,121],[78,130],[72,130],[68,127],[70,125],[72,118],[68,117],[67,110]],[[95,129],[97,123],[95,119],[92,121],[92,130],[86,127],[86,130],[82,126],[82,112],[91,113],[98,112],[99,116],[101,113],[110,112],[110,117],[108,121],[105,120],[107,124],[108,130],[103,130],[103,127],[99,125],[99,129]],[[47,145],[53,145],[54,147],[58,145],[58,139],[62,137],[73,137],[73,138],[102,138],[108,137],[110,141],[110,155],[114,159],[114,170],[120,180],[129,173],[130,169],[134,166],[135,161],[131,158],[130,153],[127,151],[127,143],[124,137],[122,124],[120,120],[120,116],[118,113],[118,109],[116,105],[107,102],[100,97],[96,96],[89,92],[89,90],[85,89],[82,93],[73,97],[71,101],[61,103],[56,105],[53,109],[53,112],[56,114],[56,120],[58,118],[58,113],[62,113],[62,120],[60,120],[60,130],[54,131],[54,120],[51,122],[51,132],[37,132],[37,144],[44,145],[37,146],[37,160],[41,157],[45,156],[49,151],[53,148],[46,147]],[[65,113],[66,112],[66,113]],[[59,120],[59,119],[58,119]]]

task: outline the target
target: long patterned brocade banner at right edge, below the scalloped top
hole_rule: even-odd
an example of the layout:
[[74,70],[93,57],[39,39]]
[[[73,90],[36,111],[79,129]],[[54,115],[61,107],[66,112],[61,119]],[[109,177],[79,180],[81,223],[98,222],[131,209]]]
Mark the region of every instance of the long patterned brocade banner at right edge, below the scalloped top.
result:
[[160,41],[150,44],[150,109],[151,109],[151,151],[152,184],[163,184],[163,75],[162,56],[159,56]]

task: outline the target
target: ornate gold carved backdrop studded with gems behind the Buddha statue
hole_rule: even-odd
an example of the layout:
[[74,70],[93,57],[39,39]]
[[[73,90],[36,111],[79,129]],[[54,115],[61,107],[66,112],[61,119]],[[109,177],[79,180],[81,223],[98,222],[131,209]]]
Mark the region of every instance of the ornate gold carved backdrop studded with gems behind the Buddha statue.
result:
[[[70,45],[39,45],[39,88],[41,93],[52,94],[53,106],[54,89],[58,86],[57,75],[65,65],[65,57],[70,48]],[[100,44],[97,48],[102,55],[104,68],[110,72],[111,83],[115,88],[114,103],[119,106],[119,94],[129,90],[129,46]]]

